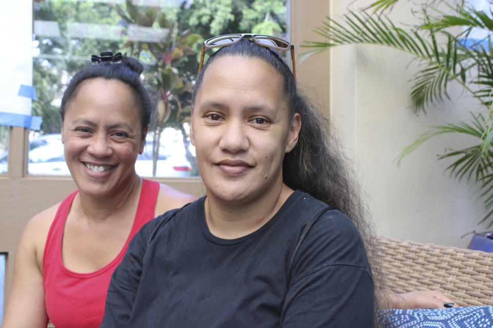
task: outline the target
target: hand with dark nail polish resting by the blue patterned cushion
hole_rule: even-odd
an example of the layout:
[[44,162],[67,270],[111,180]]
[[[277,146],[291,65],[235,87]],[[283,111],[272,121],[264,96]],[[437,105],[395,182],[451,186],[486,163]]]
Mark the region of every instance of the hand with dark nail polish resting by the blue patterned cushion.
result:
[[451,307],[444,305],[445,303],[452,303],[454,308],[459,307],[456,302],[439,291],[388,293],[387,299],[389,309],[444,309]]

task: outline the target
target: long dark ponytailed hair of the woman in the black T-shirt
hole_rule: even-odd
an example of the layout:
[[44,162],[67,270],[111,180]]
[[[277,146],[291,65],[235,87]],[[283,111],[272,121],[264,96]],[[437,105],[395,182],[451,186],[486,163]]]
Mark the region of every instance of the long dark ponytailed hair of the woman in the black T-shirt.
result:
[[277,52],[255,45],[248,39],[223,47],[211,55],[197,77],[192,101],[200,88],[207,67],[215,59],[227,55],[259,58],[274,67],[282,76],[291,113],[299,113],[301,117],[298,143],[291,152],[285,154],[282,162],[283,182],[291,189],[301,190],[326,202],[345,213],[354,222],[365,242],[374,276],[376,313],[382,306],[383,279],[376,255],[375,235],[369,223],[369,212],[360,196],[361,188],[340,151],[329,119],[317,111],[307,97],[298,92],[293,73]]

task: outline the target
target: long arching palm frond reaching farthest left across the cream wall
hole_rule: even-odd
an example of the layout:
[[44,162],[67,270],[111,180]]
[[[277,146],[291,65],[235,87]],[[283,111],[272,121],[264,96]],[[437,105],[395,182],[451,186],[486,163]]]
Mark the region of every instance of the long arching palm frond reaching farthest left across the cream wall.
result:
[[424,110],[432,100],[442,100],[447,95],[450,80],[456,80],[473,96],[463,74],[464,47],[450,34],[444,34],[447,42],[437,43],[435,32],[430,30],[425,37],[418,31],[406,31],[396,27],[386,16],[375,17],[366,11],[349,12],[343,21],[326,17],[327,22],[315,29],[326,39],[325,42],[305,42],[309,53],[324,51],[342,45],[380,45],[412,54],[424,63],[424,69],[416,74],[411,89],[411,107],[415,112]]

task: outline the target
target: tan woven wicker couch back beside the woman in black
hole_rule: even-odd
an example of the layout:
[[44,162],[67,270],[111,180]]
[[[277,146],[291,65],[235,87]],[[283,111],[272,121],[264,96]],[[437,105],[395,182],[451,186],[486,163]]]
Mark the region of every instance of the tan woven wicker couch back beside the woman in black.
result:
[[493,253],[384,237],[378,244],[393,292],[440,290],[461,306],[493,305]]

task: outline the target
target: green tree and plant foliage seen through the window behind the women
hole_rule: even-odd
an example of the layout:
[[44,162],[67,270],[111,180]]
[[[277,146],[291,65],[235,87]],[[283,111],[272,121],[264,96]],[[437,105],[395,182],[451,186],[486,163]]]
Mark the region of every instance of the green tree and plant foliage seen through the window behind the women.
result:
[[[67,80],[90,64],[91,54],[107,49],[127,52],[145,64],[144,84],[154,107],[150,126],[155,139],[153,156],[157,159],[157,142],[167,127],[180,130],[188,145],[183,123],[191,112],[201,40],[242,32],[281,36],[287,30],[286,12],[286,0],[194,0],[183,1],[177,8],[137,6],[131,1],[121,6],[96,1],[34,2],[34,19],[58,23],[61,35],[34,37],[33,86],[38,100],[33,101],[33,114],[43,117],[43,133],[58,133],[58,110]],[[75,37],[69,35],[70,23],[111,26],[116,34]],[[135,27],[168,33],[159,42],[134,42],[129,33]],[[119,36],[121,30],[124,33]],[[194,157],[188,149],[186,152],[195,166]]]

